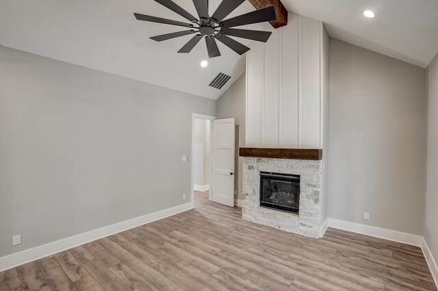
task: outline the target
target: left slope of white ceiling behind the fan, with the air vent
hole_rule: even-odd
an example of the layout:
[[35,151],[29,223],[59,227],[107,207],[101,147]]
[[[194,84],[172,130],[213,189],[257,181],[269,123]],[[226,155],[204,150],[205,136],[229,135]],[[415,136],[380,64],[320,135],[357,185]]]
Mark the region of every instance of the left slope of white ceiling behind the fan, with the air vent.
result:
[[[175,2],[197,15],[191,0]],[[219,3],[211,0],[210,12]],[[253,10],[246,1],[229,17]],[[188,22],[152,0],[0,0],[0,45],[210,99],[218,99],[245,71],[245,55],[221,42],[222,56],[208,59],[204,40],[191,53],[177,53],[193,36],[149,39],[186,28],[137,21],[133,12]],[[237,40],[250,47],[250,41]],[[206,68],[202,60],[209,61]],[[221,90],[209,87],[220,72],[230,81]]]

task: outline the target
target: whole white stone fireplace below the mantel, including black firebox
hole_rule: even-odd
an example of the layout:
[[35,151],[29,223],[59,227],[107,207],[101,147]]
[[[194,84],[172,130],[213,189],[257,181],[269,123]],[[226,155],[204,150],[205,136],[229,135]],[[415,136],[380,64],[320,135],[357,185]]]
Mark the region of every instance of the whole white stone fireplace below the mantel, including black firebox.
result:
[[322,168],[321,160],[243,157],[242,219],[320,238]]

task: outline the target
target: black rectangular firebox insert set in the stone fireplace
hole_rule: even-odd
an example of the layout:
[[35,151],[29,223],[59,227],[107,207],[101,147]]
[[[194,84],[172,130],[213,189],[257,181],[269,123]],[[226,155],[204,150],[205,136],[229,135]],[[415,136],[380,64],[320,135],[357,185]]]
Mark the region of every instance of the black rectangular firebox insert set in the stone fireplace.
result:
[[260,172],[260,207],[298,214],[300,175]]

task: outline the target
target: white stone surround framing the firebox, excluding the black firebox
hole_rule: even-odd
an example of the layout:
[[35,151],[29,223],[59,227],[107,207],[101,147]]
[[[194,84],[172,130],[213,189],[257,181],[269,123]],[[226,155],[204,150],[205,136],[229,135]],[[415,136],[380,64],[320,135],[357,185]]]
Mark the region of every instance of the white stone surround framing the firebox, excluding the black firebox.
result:
[[[242,149],[240,151],[242,155]],[[322,161],[267,157],[243,157],[242,219],[311,238],[320,238],[322,228]],[[260,172],[300,175],[298,214],[259,206]]]

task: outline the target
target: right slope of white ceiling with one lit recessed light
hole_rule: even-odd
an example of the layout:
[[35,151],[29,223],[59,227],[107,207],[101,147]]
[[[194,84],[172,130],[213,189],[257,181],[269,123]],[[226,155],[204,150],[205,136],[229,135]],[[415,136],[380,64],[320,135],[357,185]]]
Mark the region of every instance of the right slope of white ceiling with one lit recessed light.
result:
[[[426,68],[438,51],[437,0],[282,0],[324,21],[329,35]],[[375,18],[363,16],[372,10]]]

